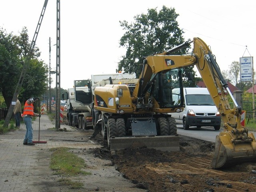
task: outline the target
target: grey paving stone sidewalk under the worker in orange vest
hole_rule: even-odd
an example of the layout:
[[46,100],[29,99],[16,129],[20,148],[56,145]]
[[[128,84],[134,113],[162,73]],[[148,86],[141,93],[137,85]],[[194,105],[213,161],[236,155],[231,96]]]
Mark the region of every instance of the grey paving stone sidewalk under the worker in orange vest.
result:
[[[47,115],[42,115],[40,118],[40,135],[39,118],[33,121],[32,127],[34,130],[33,141],[46,140],[47,143],[39,143],[35,146],[23,145],[26,133],[26,126],[23,122],[19,130],[0,134],[0,192],[32,191],[29,186],[33,185],[35,181],[33,175],[38,171],[37,166],[38,161],[40,161],[37,159],[38,154],[43,152],[44,149],[69,146],[68,142],[49,140],[49,133],[52,135],[57,132],[54,129],[55,124],[52,124]],[[60,128],[77,131],[64,124],[61,124]],[[61,134],[68,134],[68,132],[61,132]]]

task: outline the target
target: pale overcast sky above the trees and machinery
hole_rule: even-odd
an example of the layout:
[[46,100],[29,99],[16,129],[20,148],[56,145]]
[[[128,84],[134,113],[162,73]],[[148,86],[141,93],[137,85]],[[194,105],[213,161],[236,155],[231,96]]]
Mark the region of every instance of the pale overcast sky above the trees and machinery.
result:
[[[18,35],[28,28],[34,36],[44,0],[1,0],[0,27]],[[119,21],[133,21],[149,8],[175,8],[185,40],[200,37],[210,45],[221,70],[242,56],[256,54],[256,1],[253,0],[61,0],[60,1],[60,86],[72,88],[74,80],[91,74],[115,73],[125,54],[119,48],[124,34]],[[40,59],[49,63],[49,37],[56,44],[56,0],[48,0],[36,40]],[[246,50],[246,46],[248,51]],[[56,46],[51,66],[56,69]],[[52,75],[56,84],[56,75]]]

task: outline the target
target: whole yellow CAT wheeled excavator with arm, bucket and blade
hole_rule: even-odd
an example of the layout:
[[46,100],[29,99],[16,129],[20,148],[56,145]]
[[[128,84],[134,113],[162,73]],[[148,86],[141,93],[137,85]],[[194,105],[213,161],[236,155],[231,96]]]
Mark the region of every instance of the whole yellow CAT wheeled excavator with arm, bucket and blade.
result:
[[[194,44],[192,54],[171,55],[191,44]],[[224,122],[224,130],[216,136],[212,168],[256,160],[254,135],[241,125],[242,109],[236,104],[215,56],[203,40],[194,38],[142,60],[137,84],[108,84],[94,90],[94,129],[100,130],[111,150],[141,142],[160,150],[179,150],[171,113],[184,109],[182,68],[196,65]],[[180,88],[180,94],[172,93],[173,88]],[[234,108],[230,107],[228,94]]]

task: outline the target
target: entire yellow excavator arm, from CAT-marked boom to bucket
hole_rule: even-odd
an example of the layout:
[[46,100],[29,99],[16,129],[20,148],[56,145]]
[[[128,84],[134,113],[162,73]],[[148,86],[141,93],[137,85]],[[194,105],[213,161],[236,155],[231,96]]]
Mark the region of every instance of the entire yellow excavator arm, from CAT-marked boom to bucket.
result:
[[[194,44],[192,55],[171,55],[173,52]],[[236,103],[223,78],[220,68],[209,47],[200,38],[161,53],[144,58],[139,86],[134,90],[133,101],[139,101],[150,86],[154,86],[154,76],[165,71],[196,65],[198,71],[212,96],[224,122],[224,130],[216,136],[216,145],[212,168],[223,168],[256,160],[256,141],[252,133],[241,125],[242,109]],[[147,82],[147,83],[145,83]],[[233,100],[234,108],[228,101],[228,94]],[[153,107],[154,108],[154,107]]]

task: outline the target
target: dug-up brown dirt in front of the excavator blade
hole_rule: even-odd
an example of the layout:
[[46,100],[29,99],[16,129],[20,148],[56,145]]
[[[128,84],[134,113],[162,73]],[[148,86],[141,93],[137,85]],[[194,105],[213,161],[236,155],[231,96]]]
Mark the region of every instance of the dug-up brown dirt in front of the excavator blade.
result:
[[104,148],[94,149],[95,157],[112,165],[137,188],[150,192],[242,192],[256,191],[256,164],[247,163],[224,170],[210,167],[214,144],[180,136],[180,152],[161,152],[145,147],[117,151],[110,158]]

